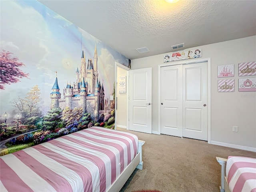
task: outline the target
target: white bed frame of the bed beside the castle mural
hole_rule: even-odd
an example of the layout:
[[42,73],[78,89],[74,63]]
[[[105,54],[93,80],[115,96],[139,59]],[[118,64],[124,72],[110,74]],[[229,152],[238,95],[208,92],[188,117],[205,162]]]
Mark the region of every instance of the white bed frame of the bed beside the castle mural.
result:
[[124,171],[118,176],[114,183],[110,186],[107,192],[118,192],[124,186],[125,182],[131,176],[135,168],[142,170],[143,161],[142,161],[142,146],[145,144],[145,141],[139,140],[138,151],[135,158],[130,162],[130,164],[124,169]]

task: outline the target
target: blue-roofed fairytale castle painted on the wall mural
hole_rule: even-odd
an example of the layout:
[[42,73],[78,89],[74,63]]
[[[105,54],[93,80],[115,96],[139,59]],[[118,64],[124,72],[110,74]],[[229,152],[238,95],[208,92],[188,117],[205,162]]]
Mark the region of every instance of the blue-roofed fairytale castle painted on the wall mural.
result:
[[[57,72],[56,72],[57,74]],[[50,108],[76,108],[81,107],[83,112],[90,113],[95,121],[102,121],[106,114],[110,114],[111,109],[109,100],[105,100],[104,85],[100,83],[98,74],[98,53],[95,45],[94,62],[92,58],[86,57],[84,51],[81,56],[80,71],[76,70],[76,80],[73,84],[68,83],[63,89],[63,98],[61,98],[60,88],[58,85],[58,77],[52,86],[50,93]]]

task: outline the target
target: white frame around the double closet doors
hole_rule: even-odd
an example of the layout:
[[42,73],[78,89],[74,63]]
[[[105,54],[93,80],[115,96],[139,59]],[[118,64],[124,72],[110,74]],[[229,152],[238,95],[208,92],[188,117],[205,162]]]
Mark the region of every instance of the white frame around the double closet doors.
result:
[[193,64],[198,62],[207,62],[207,142],[211,144],[211,58],[200,58],[200,59],[188,59],[176,62],[168,62],[166,64],[158,65],[158,134],[160,134],[160,123],[161,123],[161,86],[160,86],[160,75],[161,67],[171,66],[171,65],[179,65],[179,64]]

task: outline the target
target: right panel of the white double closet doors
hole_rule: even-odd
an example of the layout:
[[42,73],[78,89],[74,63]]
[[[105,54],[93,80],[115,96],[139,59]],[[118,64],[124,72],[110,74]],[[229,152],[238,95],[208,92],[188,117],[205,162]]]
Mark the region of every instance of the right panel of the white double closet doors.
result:
[[207,141],[207,62],[183,65],[182,135]]

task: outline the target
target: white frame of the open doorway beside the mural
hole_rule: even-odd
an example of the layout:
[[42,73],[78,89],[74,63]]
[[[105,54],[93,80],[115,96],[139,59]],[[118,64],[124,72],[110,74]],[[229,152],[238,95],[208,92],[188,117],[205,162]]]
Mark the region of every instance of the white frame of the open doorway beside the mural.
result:
[[[117,93],[117,67],[120,67],[124,70],[126,70],[126,77],[129,77],[129,70],[131,70],[130,68],[115,62],[115,97],[116,97],[116,93]],[[129,118],[129,80],[128,78],[126,78],[126,109],[127,109],[127,113],[126,113],[126,129],[129,130],[129,122],[128,122],[128,118]],[[116,112],[116,98],[115,98],[115,130],[116,130],[116,121],[117,121],[117,112]]]

